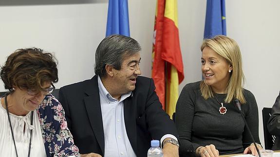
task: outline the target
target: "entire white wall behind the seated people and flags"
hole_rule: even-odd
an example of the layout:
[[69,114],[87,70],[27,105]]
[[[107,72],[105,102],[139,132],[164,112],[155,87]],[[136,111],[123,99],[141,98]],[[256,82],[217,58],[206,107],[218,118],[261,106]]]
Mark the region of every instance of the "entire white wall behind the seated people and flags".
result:
[[[156,0],[129,0],[131,37],[142,45],[142,75],[151,76],[151,48]],[[243,55],[245,88],[259,105],[271,107],[279,93],[279,0],[226,0],[227,35]],[[18,48],[39,47],[55,52],[59,61],[57,88],[93,75],[94,52],[106,32],[108,0],[1,0],[0,64]],[[201,80],[200,45],[206,0],[178,0],[185,80]],[[0,83],[0,91],[4,91]]]

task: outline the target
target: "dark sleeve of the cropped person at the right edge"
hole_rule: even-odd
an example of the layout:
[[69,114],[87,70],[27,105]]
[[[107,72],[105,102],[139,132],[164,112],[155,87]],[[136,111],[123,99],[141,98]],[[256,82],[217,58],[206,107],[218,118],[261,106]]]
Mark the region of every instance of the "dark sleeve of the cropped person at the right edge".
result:
[[267,122],[267,129],[271,135],[276,136],[272,150],[280,149],[280,93],[271,109],[271,116]]

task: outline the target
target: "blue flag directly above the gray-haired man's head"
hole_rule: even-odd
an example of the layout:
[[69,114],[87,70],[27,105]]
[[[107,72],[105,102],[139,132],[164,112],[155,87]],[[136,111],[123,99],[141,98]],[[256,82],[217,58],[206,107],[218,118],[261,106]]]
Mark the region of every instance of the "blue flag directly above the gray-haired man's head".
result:
[[109,0],[106,36],[114,34],[130,36],[128,0]]

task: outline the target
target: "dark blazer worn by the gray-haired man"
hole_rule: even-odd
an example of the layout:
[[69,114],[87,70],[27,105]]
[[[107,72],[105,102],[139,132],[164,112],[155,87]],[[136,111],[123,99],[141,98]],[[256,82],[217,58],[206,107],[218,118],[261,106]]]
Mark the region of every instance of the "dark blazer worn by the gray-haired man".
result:
[[[160,140],[165,134],[178,136],[174,123],[162,109],[153,80],[142,76],[136,80],[135,90],[124,100],[124,118],[132,149],[137,157],[146,157],[150,140]],[[104,156],[97,75],[91,80],[61,87],[59,101],[80,153]]]

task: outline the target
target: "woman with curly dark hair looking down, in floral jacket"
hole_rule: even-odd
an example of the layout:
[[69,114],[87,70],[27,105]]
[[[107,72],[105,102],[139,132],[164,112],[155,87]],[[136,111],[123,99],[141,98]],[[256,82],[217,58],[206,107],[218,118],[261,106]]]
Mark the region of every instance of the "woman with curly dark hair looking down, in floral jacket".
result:
[[0,77],[0,154],[4,157],[80,156],[64,110],[51,94],[58,81],[55,57],[40,49],[12,53]]

